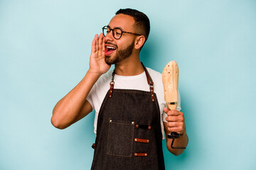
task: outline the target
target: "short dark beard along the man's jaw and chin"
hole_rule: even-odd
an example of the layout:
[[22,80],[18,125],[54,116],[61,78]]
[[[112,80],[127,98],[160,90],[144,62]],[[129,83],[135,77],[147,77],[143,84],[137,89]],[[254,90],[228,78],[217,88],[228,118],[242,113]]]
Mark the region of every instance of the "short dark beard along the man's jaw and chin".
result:
[[134,47],[134,40],[124,50],[117,50],[117,54],[113,56],[113,59],[111,59],[110,57],[105,57],[105,62],[109,65],[122,62],[122,60],[124,60],[124,59],[128,58],[130,55],[132,55],[133,47]]

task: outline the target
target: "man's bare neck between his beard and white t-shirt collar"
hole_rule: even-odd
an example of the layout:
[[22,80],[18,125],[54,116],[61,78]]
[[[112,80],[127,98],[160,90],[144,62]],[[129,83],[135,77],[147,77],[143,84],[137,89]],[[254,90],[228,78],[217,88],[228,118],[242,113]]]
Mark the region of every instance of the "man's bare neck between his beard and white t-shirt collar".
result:
[[139,54],[132,54],[122,62],[114,64],[115,73],[120,76],[136,76],[144,72]]

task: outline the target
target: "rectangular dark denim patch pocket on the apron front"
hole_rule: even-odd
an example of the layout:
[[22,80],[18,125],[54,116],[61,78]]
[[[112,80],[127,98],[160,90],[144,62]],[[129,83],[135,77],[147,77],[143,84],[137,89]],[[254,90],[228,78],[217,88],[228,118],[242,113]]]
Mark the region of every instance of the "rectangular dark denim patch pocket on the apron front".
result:
[[134,122],[110,120],[107,134],[107,154],[132,157]]

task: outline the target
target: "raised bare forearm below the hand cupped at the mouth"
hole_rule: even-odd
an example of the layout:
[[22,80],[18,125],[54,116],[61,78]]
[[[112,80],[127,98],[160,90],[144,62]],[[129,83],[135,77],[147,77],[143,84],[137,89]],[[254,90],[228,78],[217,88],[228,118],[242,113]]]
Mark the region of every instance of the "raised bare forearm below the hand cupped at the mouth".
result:
[[[51,118],[51,122],[56,128],[67,128],[75,123],[80,115],[82,106],[85,104],[87,95],[97,79],[99,79],[100,75],[101,74],[96,74],[95,72],[90,72],[89,69],[80,83],[65,97],[58,101],[53,108],[53,116]],[[88,108],[83,110],[90,113],[89,110],[91,109]]]

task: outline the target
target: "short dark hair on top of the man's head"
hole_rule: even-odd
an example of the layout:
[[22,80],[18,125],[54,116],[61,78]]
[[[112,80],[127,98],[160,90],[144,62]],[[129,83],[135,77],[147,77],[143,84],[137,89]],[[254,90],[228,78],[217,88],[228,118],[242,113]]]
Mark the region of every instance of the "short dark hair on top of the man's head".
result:
[[[146,35],[145,38],[147,40],[147,38],[149,37],[149,31],[150,31],[150,23],[149,23],[149,18],[142,12],[137,11],[136,9],[132,9],[132,8],[125,8],[125,9],[119,9],[116,12],[117,14],[124,14],[124,15],[128,15],[128,16],[132,16],[135,20],[135,24],[137,26],[139,26],[140,28],[144,29]],[[145,42],[146,42],[145,40]]]

